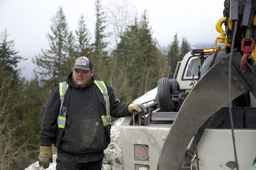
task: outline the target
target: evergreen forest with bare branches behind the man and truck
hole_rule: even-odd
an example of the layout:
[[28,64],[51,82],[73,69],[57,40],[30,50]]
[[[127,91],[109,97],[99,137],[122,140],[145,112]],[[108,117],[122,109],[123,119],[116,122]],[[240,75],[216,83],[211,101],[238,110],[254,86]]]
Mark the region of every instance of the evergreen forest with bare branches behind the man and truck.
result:
[[[8,30],[0,36],[0,169],[22,170],[37,161],[39,134],[48,97],[55,84],[65,77],[79,56],[93,63],[94,77],[113,87],[122,102],[132,102],[157,86],[160,78],[174,74],[177,61],[189,52],[186,38],[179,42],[177,33],[162,47],[152,37],[147,11],[129,16],[125,7],[115,6],[107,18],[100,0],[95,0],[95,27],[89,30],[84,15],[77,18],[72,32],[60,6],[51,19],[47,38],[49,48],[38,51],[34,77],[21,77],[18,63],[26,60],[9,40]],[[117,12],[124,18],[114,17]],[[122,20],[121,20],[122,19]],[[112,31],[106,29],[112,26]],[[90,33],[90,31],[93,32]],[[111,44],[109,37],[114,38]],[[111,48],[110,48],[111,46]]]

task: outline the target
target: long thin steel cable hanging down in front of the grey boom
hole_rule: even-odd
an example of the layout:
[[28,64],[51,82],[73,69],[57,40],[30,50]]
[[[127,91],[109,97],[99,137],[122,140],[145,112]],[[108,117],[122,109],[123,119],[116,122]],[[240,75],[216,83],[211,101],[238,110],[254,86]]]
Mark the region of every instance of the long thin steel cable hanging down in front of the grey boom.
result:
[[230,54],[229,63],[228,63],[228,102],[229,102],[229,117],[230,117],[231,132],[232,132],[232,139],[233,139],[234,155],[235,155],[235,161],[236,161],[236,169],[239,170],[238,159],[236,155],[236,141],[235,141],[235,135],[234,135],[233,118],[232,118],[232,112],[231,112],[232,101],[230,97],[231,96],[231,59],[232,59],[234,41],[235,41],[236,30],[237,30],[237,21],[236,20],[234,21],[235,21],[235,25],[234,25],[234,33],[233,33],[233,38],[231,43],[231,52],[230,52],[231,54]]

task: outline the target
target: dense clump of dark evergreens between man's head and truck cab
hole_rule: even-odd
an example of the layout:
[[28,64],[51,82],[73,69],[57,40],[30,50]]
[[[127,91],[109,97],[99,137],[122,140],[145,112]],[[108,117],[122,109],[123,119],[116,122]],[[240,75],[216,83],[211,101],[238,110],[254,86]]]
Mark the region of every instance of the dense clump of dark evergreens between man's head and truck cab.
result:
[[129,88],[125,89],[129,91],[125,96],[127,101],[132,101],[157,86],[159,76],[162,75],[159,73],[159,66],[166,73],[165,64],[162,64],[166,63],[166,58],[157,48],[157,41],[152,38],[146,11],[139,23],[135,18],[133,25],[128,26],[117,46],[117,53],[129,84]]

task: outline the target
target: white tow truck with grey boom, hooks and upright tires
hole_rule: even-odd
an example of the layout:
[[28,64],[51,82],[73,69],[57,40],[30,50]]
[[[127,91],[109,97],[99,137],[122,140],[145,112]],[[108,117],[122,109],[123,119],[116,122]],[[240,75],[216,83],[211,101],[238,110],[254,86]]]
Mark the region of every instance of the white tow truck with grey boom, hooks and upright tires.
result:
[[255,162],[255,1],[224,7],[214,48],[187,53],[173,77],[159,79],[148,114],[125,117],[122,170],[248,170]]

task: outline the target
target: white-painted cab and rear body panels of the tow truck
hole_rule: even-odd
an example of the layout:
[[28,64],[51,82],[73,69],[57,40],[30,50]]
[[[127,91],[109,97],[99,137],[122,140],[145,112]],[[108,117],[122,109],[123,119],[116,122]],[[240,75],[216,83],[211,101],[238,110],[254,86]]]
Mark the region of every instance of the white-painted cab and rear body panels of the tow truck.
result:
[[[176,77],[181,91],[192,88],[192,74],[196,80],[198,66],[201,66],[200,58],[193,56],[191,52],[184,56]],[[147,116],[145,118],[147,122]],[[171,127],[172,121],[151,121],[149,125],[134,125],[132,116],[125,117],[120,126],[122,170],[156,170]],[[256,129],[234,129],[234,135],[239,168],[248,170],[256,156]],[[139,150],[139,146],[146,147],[146,150]],[[198,163],[200,170],[231,170],[226,165],[234,161],[231,129],[205,129],[196,149],[200,160],[197,162],[196,153],[193,153],[189,169],[196,170]],[[140,158],[139,152],[146,155],[142,154]],[[172,170],[172,167],[166,169]]]

